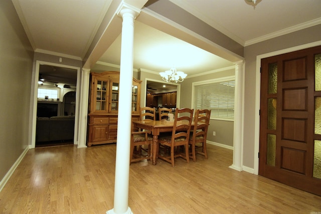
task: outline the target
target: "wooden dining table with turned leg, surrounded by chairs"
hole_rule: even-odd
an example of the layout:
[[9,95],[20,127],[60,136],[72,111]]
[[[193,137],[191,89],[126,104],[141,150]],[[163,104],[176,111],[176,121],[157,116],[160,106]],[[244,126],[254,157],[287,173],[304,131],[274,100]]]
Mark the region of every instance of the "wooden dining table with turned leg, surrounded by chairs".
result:
[[[148,130],[153,135],[152,137],[152,150],[151,150],[151,161],[153,165],[156,165],[157,155],[158,155],[158,136],[162,132],[172,132],[174,127],[174,121],[167,120],[136,120],[132,121],[134,127]],[[188,121],[179,121],[181,124]],[[194,128],[194,121],[192,121],[191,129]]]

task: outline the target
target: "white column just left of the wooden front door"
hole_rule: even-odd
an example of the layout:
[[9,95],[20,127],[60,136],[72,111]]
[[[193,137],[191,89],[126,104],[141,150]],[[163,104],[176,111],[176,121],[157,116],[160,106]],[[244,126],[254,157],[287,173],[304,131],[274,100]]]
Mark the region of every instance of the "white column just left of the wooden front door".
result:
[[230,168],[243,171],[243,61],[235,63],[234,149]]

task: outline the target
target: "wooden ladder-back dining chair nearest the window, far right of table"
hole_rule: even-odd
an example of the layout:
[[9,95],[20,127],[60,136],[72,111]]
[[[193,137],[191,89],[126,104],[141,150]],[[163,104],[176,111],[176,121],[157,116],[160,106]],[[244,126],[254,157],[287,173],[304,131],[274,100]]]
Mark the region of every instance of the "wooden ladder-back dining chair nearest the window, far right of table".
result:
[[210,122],[210,116],[211,110],[196,110],[194,116],[194,128],[191,131],[191,136],[189,139],[189,144],[191,145],[192,149],[191,157],[193,158],[194,162],[196,161],[196,153],[202,154],[205,156],[205,158],[208,158],[206,149],[206,137]]

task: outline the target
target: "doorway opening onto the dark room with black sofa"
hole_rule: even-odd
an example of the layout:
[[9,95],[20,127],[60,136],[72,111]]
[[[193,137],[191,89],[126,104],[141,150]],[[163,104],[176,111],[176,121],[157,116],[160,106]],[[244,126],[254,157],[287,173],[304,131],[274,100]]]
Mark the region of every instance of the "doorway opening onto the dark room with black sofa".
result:
[[32,147],[77,144],[79,71],[37,61]]

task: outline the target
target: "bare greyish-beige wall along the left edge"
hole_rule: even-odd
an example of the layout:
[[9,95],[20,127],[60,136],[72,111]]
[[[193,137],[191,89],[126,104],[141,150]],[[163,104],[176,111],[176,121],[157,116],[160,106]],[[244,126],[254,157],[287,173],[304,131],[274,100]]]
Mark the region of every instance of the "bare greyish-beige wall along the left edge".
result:
[[33,50],[11,1],[0,1],[0,23],[2,180],[29,143]]

